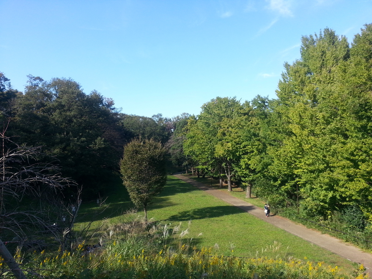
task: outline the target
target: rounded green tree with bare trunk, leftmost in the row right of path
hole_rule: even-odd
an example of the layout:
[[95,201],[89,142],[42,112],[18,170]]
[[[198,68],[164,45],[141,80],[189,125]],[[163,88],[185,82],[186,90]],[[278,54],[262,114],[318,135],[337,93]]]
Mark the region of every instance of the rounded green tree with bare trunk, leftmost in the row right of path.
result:
[[244,119],[244,107],[235,97],[217,97],[202,106],[197,118],[187,124],[183,148],[186,155],[199,163],[199,168],[218,170],[227,177],[232,190],[234,164],[240,158],[241,138],[237,132]]

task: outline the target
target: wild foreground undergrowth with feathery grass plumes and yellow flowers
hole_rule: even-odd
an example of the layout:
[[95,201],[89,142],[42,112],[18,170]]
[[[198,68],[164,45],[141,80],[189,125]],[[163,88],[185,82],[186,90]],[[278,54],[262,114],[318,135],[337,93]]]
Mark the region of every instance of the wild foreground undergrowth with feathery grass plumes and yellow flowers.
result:
[[[298,279],[347,279],[368,278],[359,266],[353,275],[343,274],[337,266],[324,262],[310,262],[293,257],[282,259],[280,244],[266,247],[276,256],[256,254],[253,258],[223,256],[217,247],[201,248],[186,238],[181,224],[174,227],[145,221],[135,212],[125,215],[125,221],[106,227],[97,246],[87,246],[84,241],[69,250],[41,253],[26,257],[16,255],[27,277],[59,279],[116,279],[116,278],[298,278]],[[264,251],[264,250],[263,250]],[[4,264],[0,266],[4,271]],[[6,271],[5,271],[6,272]],[[6,272],[6,274],[9,273]]]

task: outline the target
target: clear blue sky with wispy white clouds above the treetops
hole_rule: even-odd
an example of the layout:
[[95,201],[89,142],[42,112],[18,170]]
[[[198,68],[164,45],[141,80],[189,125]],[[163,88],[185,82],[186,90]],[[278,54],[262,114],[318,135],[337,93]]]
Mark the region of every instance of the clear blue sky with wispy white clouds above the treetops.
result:
[[0,71],[71,77],[123,113],[199,114],[220,96],[275,98],[302,35],[326,27],[349,42],[372,0],[0,0]]

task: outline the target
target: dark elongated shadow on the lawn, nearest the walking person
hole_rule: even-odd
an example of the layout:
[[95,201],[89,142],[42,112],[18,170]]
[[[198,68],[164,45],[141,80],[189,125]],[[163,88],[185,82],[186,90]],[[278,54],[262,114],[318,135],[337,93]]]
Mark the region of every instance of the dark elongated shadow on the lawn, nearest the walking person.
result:
[[197,209],[191,209],[179,212],[176,215],[172,215],[168,218],[169,221],[189,221],[190,219],[205,219],[215,218],[224,215],[237,214],[239,210],[235,206],[223,205],[223,206],[210,206]]

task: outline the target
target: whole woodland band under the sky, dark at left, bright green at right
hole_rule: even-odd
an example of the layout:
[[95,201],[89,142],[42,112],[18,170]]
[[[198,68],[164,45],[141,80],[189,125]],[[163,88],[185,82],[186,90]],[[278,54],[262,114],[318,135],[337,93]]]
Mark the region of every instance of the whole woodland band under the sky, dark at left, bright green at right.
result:
[[[303,36],[301,57],[284,64],[276,94],[216,97],[197,116],[147,118],[71,79],[29,76],[18,92],[0,74],[2,153],[38,148],[29,160],[60,166],[49,174],[60,172],[95,199],[118,175],[123,146],[153,139],[175,166],[225,180],[229,190],[244,187],[247,198],[319,220],[344,213],[350,227],[372,230],[372,25],[351,44],[328,28]],[[1,211],[7,202],[2,195]]]

